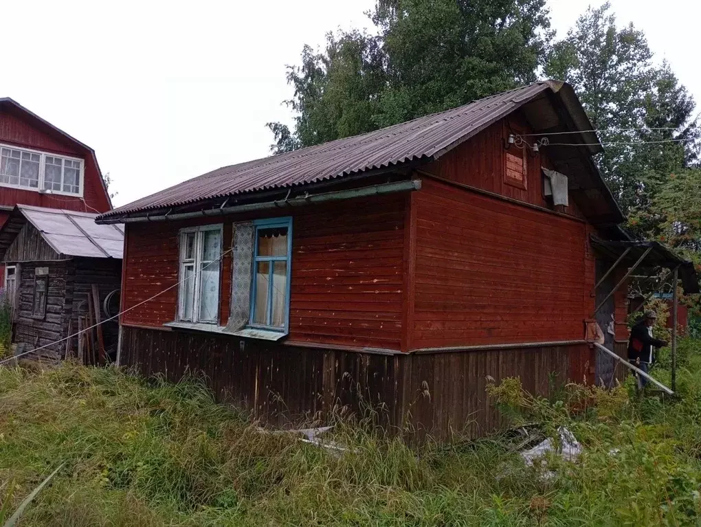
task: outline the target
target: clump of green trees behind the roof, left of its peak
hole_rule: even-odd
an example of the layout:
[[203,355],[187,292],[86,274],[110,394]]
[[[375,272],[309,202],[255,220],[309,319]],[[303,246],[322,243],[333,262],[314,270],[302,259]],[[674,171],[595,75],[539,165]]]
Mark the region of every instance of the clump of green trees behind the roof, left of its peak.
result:
[[329,34],[287,68],[294,130],[280,153],[369,132],[536,80],[550,39],[545,0],[380,0],[378,32]]

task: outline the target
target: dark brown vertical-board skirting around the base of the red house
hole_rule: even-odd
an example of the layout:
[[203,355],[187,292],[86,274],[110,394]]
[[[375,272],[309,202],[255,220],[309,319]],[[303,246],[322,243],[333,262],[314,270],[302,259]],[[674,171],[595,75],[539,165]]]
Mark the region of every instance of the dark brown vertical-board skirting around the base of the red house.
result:
[[526,390],[547,395],[566,381],[591,382],[592,357],[583,343],[387,355],[130,326],[121,343],[123,366],[169,381],[204,374],[217,400],[264,423],[324,422],[334,411],[370,406],[381,408],[382,425],[436,439],[504,425],[486,396],[487,376],[519,376]]

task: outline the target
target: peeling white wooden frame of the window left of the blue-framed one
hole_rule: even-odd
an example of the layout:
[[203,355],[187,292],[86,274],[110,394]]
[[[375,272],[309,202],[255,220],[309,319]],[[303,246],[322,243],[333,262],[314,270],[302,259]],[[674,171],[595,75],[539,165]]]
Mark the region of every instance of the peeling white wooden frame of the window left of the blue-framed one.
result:
[[[206,231],[219,231],[219,257],[217,261],[217,268],[219,269],[219,299],[217,299],[217,315],[215,320],[200,320],[200,265],[202,263],[202,249],[203,240]],[[187,250],[187,235],[190,233],[197,233],[195,236],[195,244],[193,247],[194,258],[185,259],[185,252]],[[178,268],[179,268],[179,282],[178,282],[178,306],[177,306],[177,320],[180,322],[192,322],[194,324],[219,324],[219,313],[222,308],[222,251],[224,250],[224,225],[200,225],[196,227],[182,228],[178,234],[179,242],[179,256],[178,256]],[[214,265],[214,264],[212,264]],[[187,266],[193,267],[193,280],[195,280],[195,285],[193,287],[193,306],[192,306],[192,320],[185,318],[185,268]]]

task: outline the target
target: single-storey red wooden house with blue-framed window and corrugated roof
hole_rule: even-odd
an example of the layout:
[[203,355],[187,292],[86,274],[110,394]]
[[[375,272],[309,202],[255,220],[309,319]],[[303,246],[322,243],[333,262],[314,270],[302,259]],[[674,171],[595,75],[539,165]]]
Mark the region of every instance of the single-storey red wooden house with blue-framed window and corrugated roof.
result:
[[268,421],[372,404],[437,437],[500,425],[488,376],[611,378],[585,330],[601,304],[622,353],[623,271],[592,235],[626,237],[588,130],[547,81],[102,214],[125,223],[120,362],[203,371]]

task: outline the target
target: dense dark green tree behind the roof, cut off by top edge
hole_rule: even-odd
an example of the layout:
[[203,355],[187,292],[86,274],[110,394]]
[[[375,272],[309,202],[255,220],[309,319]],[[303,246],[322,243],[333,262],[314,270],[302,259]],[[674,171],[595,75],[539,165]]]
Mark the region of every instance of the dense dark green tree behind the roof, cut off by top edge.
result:
[[395,0],[372,20],[388,76],[379,125],[536,81],[550,37],[543,0]]

